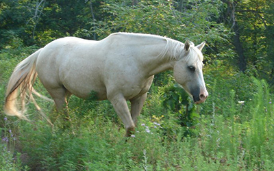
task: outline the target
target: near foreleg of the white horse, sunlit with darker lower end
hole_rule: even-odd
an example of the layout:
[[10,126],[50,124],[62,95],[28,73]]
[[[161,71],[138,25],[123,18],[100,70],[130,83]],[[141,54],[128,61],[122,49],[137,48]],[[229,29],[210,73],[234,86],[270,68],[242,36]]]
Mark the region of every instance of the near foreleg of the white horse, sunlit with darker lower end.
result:
[[112,98],[109,98],[112,103],[116,113],[125,124],[125,137],[129,137],[134,132],[135,124],[130,115],[129,108],[127,106],[127,101],[122,94],[118,94]]

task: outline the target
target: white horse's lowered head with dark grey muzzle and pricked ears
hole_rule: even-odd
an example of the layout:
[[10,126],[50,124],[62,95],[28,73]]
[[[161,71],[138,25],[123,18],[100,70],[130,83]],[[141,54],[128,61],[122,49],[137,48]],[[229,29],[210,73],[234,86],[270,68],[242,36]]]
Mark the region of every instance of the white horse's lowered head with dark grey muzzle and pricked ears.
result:
[[203,54],[201,49],[206,42],[202,42],[196,47],[192,42],[186,40],[184,52],[174,65],[174,77],[177,83],[181,84],[193,97],[195,103],[203,103],[208,97],[205,81],[203,80]]

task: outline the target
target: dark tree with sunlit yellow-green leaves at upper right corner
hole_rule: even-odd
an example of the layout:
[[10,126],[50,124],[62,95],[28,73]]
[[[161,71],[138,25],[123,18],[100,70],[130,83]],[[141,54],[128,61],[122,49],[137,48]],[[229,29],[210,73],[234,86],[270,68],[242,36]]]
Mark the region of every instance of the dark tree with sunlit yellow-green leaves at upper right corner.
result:
[[269,60],[273,57],[267,50],[271,44],[273,3],[269,0],[223,0],[223,3],[227,8],[219,19],[234,31],[231,42],[237,53],[239,70],[245,72],[248,68],[256,68],[266,78],[267,70],[272,70],[274,62]]

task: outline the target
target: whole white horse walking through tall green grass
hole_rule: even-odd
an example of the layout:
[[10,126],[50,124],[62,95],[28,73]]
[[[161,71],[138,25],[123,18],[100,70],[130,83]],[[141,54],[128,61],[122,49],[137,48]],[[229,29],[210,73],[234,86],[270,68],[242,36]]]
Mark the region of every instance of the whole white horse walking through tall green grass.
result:
[[[33,98],[36,76],[64,111],[69,97],[88,98],[96,92],[97,100],[108,99],[129,137],[136,127],[154,75],[173,70],[179,83],[195,103],[208,97],[203,80],[203,49],[150,34],[115,33],[102,40],[66,37],[53,40],[20,62],[8,82],[4,111],[9,116],[27,119],[25,101]],[[20,100],[20,101],[18,101]],[[127,105],[131,103],[131,109]]]

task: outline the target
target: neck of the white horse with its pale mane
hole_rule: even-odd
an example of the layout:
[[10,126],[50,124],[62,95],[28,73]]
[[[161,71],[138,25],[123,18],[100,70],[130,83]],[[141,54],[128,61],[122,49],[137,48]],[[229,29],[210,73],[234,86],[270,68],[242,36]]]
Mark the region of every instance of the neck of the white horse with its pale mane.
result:
[[177,49],[174,47],[179,47],[179,42],[175,40],[142,34],[112,34],[106,40],[112,43],[117,40],[126,42],[128,50],[134,51],[133,55],[138,60],[140,71],[145,73],[146,77],[172,69],[175,63],[173,51]]

